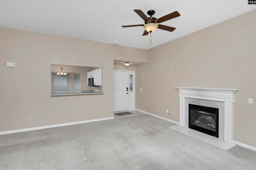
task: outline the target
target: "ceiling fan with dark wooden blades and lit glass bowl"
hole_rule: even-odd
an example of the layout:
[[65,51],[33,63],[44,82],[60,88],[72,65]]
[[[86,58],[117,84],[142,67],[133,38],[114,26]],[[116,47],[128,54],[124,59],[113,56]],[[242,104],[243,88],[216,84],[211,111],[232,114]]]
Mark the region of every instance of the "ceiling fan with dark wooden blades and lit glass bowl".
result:
[[123,28],[126,27],[138,27],[138,26],[143,26],[145,28],[144,33],[142,34],[142,36],[146,36],[148,35],[148,33],[151,34],[151,32],[154,32],[156,30],[156,28],[161,29],[161,30],[166,30],[166,31],[170,31],[173,32],[176,28],[174,27],[169,27],[169,26],[165,26],[165,25],[161,25],[159,23],[171,20],[173,18],[176,18],[178,16],[180,16],[180,13],[178,13],[178,11],[172,12],[170,14],[167,14],[166,16],[162,16],[158,19],[152,17],[152,15],[155,14],[154,10],[149,10],[148,11],[148,15],[150,15],[150,17],[147,17],[142,10],[134,10],[144,21],[145,24],[138,24],[138,25],[129,25],[129,26],[122,26]]

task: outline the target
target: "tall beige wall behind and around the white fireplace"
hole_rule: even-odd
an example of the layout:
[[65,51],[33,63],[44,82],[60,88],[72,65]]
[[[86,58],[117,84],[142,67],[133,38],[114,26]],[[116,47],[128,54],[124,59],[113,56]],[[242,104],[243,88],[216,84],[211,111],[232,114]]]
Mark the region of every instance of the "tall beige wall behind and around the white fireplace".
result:
[[255,30],[256,10],[149,49],[137,67],[137,108],[179,122],[174,87],[239,89],[233,140],[256,147]]

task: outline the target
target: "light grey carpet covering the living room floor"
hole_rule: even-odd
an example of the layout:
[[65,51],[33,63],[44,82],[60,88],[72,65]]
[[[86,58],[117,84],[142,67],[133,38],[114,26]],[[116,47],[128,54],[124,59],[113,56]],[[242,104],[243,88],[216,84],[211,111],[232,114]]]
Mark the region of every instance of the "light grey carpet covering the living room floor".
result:
[[0,136],[0,169],[243,170],[256,152],[223,150],[150,115]]

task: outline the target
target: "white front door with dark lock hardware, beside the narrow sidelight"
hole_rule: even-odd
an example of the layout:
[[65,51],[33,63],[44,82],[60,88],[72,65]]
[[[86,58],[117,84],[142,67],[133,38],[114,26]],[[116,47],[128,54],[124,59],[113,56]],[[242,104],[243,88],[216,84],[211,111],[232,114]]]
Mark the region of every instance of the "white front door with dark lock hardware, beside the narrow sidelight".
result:
[[128,111],[129,73],[114,71],[114,112]]

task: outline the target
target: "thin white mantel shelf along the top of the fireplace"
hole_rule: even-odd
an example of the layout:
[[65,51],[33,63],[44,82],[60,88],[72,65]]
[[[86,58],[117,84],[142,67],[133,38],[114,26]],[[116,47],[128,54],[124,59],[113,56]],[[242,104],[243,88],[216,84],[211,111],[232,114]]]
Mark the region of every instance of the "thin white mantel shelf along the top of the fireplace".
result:
[[215,93],[236,93],[238,89],[214,89],[214,88],[195,88],[195,87],[175,87],[178,90],[184,91],[204,91],[204,92],[215,92]]

